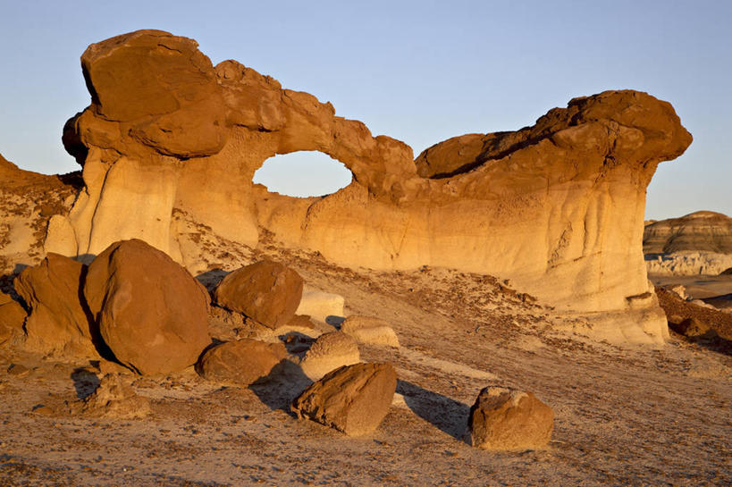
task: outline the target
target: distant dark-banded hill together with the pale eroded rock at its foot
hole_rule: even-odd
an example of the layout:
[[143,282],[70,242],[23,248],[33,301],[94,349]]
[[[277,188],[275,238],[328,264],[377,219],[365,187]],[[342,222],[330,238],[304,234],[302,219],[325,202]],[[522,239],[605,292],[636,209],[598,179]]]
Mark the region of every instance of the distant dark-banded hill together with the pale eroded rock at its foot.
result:
[[724,273],[732,268],[732,218],[700,211],[646,222],[643,248],[652,274]]

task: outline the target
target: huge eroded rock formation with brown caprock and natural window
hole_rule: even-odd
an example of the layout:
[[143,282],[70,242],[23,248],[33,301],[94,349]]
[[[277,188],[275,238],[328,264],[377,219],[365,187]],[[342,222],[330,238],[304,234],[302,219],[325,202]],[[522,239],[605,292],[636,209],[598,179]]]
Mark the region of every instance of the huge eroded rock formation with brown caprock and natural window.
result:
[[[213,66],[188,38],[133,32],[89,46],[81,64],[92,103],[63,140],[86,187],[51,219],[49,251],[93,256],[138,238],[199,273],[194,225],[249,247],[264,229],[345,266],[510,278],[560,311],[599,313],[593,330],[610,340],[667,333],[641,251],[645,188],[691,142],[666,102],[576,98],[533,127],[415,160],[329,103],[234,61]],[[353,181],[317,198],[252,184],[267,158],[299,150],[341,161]]]

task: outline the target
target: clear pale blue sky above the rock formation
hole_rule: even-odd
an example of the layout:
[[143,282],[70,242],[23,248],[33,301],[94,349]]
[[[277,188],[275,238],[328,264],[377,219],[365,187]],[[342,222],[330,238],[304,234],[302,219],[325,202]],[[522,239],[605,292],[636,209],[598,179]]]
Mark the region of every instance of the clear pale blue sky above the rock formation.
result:
[[[0,0],[0,153],[33,171],[78,169],[61,130],[88,105],[81,53],[123,32],[163,29],[197,39],[214,63],[233,58],[331,101],[415,155],[462,133],[531,125],[572,97],[647,91],[671,102],[694,135],[686,155],[660,165],[647,217],[732,215],[730,19],[732,2],[722,0]],[[330,173],[314,179],[333,184]]]

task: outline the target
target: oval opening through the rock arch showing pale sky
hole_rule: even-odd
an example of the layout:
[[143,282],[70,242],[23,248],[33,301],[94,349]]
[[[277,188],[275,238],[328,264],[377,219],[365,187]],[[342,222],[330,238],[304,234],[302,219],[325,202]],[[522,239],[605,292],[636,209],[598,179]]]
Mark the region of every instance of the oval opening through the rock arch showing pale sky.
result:
[[353,173],[337,159],[317,151],[274,155],[254,173],[252,182],[289,197],[322,197],[345,188]]

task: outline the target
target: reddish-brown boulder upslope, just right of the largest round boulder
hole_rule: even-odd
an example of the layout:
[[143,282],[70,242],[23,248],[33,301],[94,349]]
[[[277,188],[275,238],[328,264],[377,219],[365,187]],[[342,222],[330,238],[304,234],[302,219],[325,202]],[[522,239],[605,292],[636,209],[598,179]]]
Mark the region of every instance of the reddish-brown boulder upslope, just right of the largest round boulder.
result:
[[263,260],[229,273],[215,290],[221,306],[270,328],[290,322],[302,298],[302,278],[289,267]]

